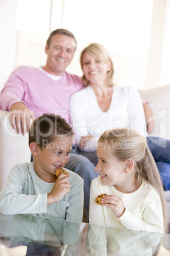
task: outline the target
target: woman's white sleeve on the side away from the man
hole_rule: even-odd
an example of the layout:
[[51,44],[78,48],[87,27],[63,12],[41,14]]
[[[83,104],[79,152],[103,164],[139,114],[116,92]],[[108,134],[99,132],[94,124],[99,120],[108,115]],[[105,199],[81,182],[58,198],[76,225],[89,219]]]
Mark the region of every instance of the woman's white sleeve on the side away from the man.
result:
[[128,102],[129,127],[146,137],[147,124],[140,93],[131,87],[127,87],[125,90]]

